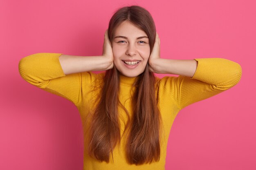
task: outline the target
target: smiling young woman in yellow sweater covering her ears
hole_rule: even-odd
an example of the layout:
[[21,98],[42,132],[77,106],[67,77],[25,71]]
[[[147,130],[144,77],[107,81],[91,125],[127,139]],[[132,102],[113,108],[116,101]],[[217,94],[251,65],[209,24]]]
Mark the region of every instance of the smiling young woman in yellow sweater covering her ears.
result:
[[160,58],[153,18],[139,6],[112,16],[101,56],[36,53],[20,60],[19,71],[78,108],[85,170],[164,170],[177,113],[235,86],[242,75],[238,63],[223,58]]

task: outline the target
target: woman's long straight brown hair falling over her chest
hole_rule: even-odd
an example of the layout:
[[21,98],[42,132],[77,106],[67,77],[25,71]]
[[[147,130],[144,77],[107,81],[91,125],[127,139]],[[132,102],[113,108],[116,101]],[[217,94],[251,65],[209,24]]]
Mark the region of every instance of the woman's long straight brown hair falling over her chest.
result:
[[[139,6],[122,7],[110,19],[108,36],[112,36],[119,24],[130,21],[145,31],[149,38],[150,53],[155,42],[155,23],[150,13]],[[146,64],[133,86],[136,87],[132,97],[132,118],[128,118],[126,127],[130,130],[126,140],[126,159],[130,164],[151,163],[160,159],[160,125],[162,117],[157,108],[157,79]],[[128,110],[119,101],[119,71],[115,68],[106,71],[101,97],[95,108],[90,124],[89,155],[100,161],[109,162],[110,152],[120,144],[118,106],[126,114]],[[112,155],[113,156],[113,155]]]

